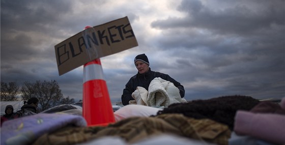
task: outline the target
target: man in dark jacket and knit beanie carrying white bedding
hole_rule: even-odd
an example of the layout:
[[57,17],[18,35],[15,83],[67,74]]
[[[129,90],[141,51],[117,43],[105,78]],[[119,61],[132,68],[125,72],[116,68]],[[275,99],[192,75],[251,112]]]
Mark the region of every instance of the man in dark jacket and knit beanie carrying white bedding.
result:
[[148,90],[151,81],[156,77],[160,77],[174,83],[174,85],[179,89],[180,97],[184,97],[184,86],[167,74],[152,71],[149,67],[150,63],[146,54],[137,55],[134,59],[134,64],[138,72],[130,78],[126,84],[126,88],[123,90],[121,98],[123,105],[128,105],[130,100],[134,100],[132,98],[132,93],[136,90],[137,86],[141,86]]

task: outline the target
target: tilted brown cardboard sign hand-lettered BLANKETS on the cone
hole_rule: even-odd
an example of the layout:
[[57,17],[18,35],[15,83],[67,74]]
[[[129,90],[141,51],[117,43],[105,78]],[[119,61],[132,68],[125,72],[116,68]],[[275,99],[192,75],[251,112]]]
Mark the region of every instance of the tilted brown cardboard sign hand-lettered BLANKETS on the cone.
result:
[[59,75],[137,45],[128,17],[87,28],[54,46]]

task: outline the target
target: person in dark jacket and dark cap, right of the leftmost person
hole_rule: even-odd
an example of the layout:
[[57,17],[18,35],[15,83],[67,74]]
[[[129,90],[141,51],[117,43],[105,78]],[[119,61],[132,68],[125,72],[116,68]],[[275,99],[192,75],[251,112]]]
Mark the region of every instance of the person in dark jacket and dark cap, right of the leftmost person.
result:
[[13,116],[13,118],[20,118],[20,117],[24,117],[27,115],[33,115],[33,114],[37,114],[37,107],[39,104],[39,99],[36,97],[32,97],[27,101],[27,104],[23,105],[21,107],[21,110],[17,111],[15,113],[15,115]]

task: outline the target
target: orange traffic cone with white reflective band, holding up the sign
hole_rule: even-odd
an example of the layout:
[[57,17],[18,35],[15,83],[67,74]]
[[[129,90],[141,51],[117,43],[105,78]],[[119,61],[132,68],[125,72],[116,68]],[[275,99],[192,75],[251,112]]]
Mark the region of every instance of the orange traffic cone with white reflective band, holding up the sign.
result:
[[100,59],[95,59],[83,66],[82,109],[88,126],[106,126],[115,122]]

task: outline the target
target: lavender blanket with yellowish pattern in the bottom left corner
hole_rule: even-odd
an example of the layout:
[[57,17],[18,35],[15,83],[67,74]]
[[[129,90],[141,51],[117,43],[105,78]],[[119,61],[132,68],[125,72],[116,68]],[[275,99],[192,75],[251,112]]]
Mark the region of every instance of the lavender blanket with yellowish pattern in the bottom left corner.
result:
[[31,144],[44,133],[65,126],[87,126],[79,115],[39,113],[10,120],[1,127],[1,144]]

